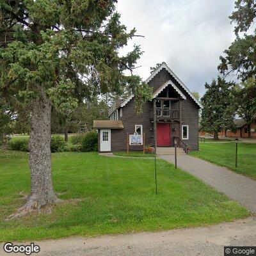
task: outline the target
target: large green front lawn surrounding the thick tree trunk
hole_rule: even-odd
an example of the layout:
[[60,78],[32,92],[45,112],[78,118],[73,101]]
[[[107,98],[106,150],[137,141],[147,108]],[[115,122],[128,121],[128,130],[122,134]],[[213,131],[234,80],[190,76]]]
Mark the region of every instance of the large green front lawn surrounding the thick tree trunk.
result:
[[[15,161],[13,161],[15,159]],[[125,159],[97,153],[52,154],[54,188],[77,204],[54,207],[52,214],[4,219],[29,193],[28,153],[0,150],[0,241],[58,239],[211,225],[250,213],[200,180],[157,159]]]

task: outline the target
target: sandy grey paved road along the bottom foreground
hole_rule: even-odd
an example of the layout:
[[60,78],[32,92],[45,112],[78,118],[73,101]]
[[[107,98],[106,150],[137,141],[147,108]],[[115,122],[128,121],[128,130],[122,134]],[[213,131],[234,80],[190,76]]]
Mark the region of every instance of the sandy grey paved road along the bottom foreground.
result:
[[[35,242],[41,248],[37,256],[223,256],[223,246],[255,246],[256,218],[209,227],[184,228],[92,239],[76,238]],[[15,243],[17,244],[17,243]],[[25,243],[29,244],[29,243]],[[19,256],[3,252],[0,255]],[[24,254],[23,254],[24,255]],[[34,255],[34,254],[33,254]]]

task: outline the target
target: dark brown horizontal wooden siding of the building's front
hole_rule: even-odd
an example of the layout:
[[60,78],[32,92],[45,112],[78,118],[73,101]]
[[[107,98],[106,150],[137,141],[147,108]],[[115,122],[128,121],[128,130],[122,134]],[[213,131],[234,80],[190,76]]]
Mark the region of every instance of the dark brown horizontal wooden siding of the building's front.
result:
[[[184,140],[192,150],[198,150],[198,110],[199,106],[189,96],[189,94],[180,86],[180,84],[168,73],[166,69],[161,70],[151,81],[149,86],[152,86],[155,92],[163,83],[172,80],[179,90],[186,95],[186,100],[172,102],[172,109],[181,109],[181,124],[172,122],[171,125],[171,145],[173,146],[173,136],[180,135],[182,125],[189,125],[189,140]],[[173,92],[174,94],[174,92]],[[150,111],[153,109],[152,102],[145,102],[142,106],[142,113],[136,114],[134,108],[134,98],[131,99],[123,108],[123,116],[120,117],[120,108],[118,109],[118,120],[124,123],[123,130],[111,130],[111,151],[124,151],[127,149],[127,133],[133,134],[135,125],[143,125],[145,132],[145,144],[154,145],[154,125],[150,121]],[[175,129],[175,131],[174,131]],[[142,146],[132,146],[130,150],[143,150]]]

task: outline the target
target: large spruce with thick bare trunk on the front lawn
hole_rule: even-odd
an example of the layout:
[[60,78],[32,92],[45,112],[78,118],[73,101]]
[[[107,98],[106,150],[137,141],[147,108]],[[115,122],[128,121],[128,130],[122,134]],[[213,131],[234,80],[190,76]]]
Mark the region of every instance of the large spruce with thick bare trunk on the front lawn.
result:
[[[139,46],[118,50],[136,36],[115,12],[116,0],[0,1],[0,90],[28,106],[31,193],[27,212],[60,200],[52,186],[51,108],[74,109],[99,93],[134,93],[137,111],[150,99],[147,84],[132,76]],[[125,76],[125,70],[131,76]]]

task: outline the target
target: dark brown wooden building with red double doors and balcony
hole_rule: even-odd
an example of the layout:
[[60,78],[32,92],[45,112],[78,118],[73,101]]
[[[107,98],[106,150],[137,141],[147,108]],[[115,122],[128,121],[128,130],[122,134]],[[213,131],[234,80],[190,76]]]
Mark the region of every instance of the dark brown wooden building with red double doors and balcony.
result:
[[[145,102],[136,114],[134,95],[120,102],[109,113],[109,120],[94,121],[99,131],[99,152],[124,151],[127,134],[145,134],[145,145],[198,150],[198,111],[202,105],[179,77],[163,63],[145,81],[153,89],[152,101]],[[130,150],[143,150],[134,145]]]

